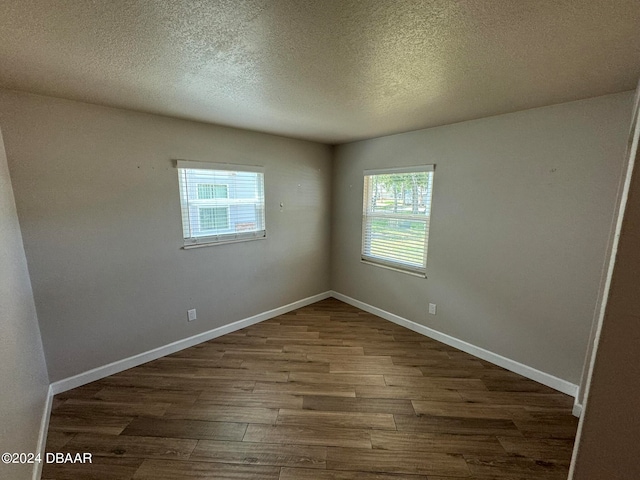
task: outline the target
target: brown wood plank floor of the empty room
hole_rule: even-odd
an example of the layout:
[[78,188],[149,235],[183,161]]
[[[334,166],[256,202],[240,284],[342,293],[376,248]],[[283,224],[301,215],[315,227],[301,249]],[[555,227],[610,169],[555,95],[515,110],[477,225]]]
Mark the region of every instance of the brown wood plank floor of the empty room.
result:
[[334,299],[54,399],[43,479],[566,479],[572,399]]

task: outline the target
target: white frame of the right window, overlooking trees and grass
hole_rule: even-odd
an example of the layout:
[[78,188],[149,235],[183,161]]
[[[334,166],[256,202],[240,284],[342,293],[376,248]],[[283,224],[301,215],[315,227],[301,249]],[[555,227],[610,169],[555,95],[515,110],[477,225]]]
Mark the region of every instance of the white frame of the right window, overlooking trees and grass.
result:
[[[362,239],[360,248],[360,261],[369,265],[377,267],[388,268],[391,270],[415,275],[418,277],[426,278],[427,276],[427,252],[429,247],[429,228],[432,216],[433,207],[433,180],[434,180],[435,164],[430,165],[418,165],[410,167],[397,167],[397,168],[381,168],[375,170],[364,170],[363,172],[363,200],[362,200]],[[413,173],[430,173],[429,188],[427,194],[429,198],[428,203],[428,215],[416,215],[416,214],[398,214],[387,212],[374,212],[372,206],[373,195],[370,192],[370,183],[373,182],[373,177],[377,175],[390,175],[390,174],[413,174]],[[417,266],[411,262],[403,262],[400,259],[390,259],[388,257],[376,256],[371,253],[371,233],[369,231],[372,220],[391,219],[397,221],[419,221],[424,223],[424,252],[422,265]]]

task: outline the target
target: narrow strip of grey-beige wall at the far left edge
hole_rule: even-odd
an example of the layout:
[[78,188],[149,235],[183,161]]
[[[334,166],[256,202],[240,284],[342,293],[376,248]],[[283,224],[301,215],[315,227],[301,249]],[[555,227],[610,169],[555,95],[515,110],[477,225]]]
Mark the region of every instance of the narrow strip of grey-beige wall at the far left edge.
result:
[[[0,453],[36,452],[47,367],[0,132]],[[31,478],[32,465],[0,463],[0,478]]]

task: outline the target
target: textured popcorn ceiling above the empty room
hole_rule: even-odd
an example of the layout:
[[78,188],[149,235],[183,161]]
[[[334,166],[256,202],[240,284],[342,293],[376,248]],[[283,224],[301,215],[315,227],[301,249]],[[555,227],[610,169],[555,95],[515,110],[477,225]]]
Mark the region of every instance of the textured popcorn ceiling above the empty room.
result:
[[0,0],[0,86],[326,143],[639,76],[640,0]]

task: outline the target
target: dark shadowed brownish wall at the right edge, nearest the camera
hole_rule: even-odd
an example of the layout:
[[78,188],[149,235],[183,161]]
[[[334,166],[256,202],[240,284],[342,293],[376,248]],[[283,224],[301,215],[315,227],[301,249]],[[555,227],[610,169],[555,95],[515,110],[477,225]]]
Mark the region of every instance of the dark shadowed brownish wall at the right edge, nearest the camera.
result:
[[584,418],[576,439],[574,480],[640,478],[639,164],[636,151]]

